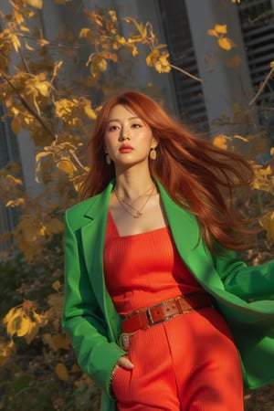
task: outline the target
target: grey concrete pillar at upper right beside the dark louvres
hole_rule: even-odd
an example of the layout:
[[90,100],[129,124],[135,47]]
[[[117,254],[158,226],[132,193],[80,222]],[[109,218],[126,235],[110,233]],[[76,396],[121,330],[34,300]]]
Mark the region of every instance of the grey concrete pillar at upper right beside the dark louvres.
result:
[[[200,76],[203,79],[205,105],[213,134],[227,132],[229,126],[220,128],[219,121],[230,118],[234,104],[239,103],[247,110],[252,96],[252,86],[248,74],[244,45],[240,31],[237,6],[230,1],[185,0],[189,23],[195,45]],[[207,30],[216,24],[227,25],[227,37],[236,47],[226,51],[218,47],[216,37],[208,36]],[[241,64],[229,66],[231,58],[238,56]]]

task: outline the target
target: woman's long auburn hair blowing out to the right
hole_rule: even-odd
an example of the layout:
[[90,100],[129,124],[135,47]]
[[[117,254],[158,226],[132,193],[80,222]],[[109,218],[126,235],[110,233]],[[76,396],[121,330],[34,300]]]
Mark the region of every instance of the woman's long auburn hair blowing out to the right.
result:
[[217,242],[228,249],[248,248],[254,230],[234,206],[234,192],[250,186],[252,166],[237,153],[198,138],[156,101],[137,91],[108,100],[100,110],[89,142],[90,171],[80,199],[100,193],[115,177],[113,163],[106,163],[104,133],[110,111],[117,104],[126,106],[151,128],[158,141],[157,158],[149,160],[151,174],[178,205],[196,216],[207,247],[213,249]]

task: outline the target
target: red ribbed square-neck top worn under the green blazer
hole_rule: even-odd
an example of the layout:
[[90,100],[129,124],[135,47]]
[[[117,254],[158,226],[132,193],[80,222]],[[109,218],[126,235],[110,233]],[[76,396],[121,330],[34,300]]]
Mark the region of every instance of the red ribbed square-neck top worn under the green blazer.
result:
[[[182,241],[187,240],[182,238]],[[201,290],[180,258],[169,227],[121,237],[111,213],[104,274],[114,306],[121,315]]]

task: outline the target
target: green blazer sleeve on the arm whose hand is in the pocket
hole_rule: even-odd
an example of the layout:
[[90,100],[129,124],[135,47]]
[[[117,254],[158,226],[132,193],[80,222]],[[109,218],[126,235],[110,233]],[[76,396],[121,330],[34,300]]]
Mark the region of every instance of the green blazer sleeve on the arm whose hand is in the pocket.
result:
[[109,342],[108,329],[92,289],[77,238],[65,217],[65,296],[62,326],[71,338],[80,368],[108,395],[111,371],[121,355]]

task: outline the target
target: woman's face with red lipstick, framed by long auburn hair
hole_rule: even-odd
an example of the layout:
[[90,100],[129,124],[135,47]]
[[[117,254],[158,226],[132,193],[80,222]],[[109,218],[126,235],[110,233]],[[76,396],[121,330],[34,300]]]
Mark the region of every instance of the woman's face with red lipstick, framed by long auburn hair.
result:
[[137,114],[121,104],[111,109],[104,146],[116,167],[147,164],[150,150],[156,145],[151,128]]

